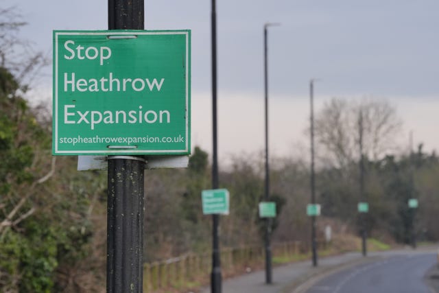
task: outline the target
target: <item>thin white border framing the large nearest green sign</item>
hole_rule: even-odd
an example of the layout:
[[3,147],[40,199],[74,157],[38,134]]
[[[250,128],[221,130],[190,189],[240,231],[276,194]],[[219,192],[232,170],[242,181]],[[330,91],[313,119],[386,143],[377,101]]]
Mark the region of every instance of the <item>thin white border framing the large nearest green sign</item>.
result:
[[[157,35],[157,34],[182,34],[186,38],[186,89],[185,89],[185,99],[186,99],[186,145],[185,150],[58,150],[58,36],[80,36],[80,35],[132,35],[132,34],[142,34],[142,35]],[[130,31],[130,32],[55,32],[55,154],[164,154],[164,153],[178,153],[178,152],[189,152],[189,32],[185,31],[163,31],[163,32],[145,32],[145,31]]]

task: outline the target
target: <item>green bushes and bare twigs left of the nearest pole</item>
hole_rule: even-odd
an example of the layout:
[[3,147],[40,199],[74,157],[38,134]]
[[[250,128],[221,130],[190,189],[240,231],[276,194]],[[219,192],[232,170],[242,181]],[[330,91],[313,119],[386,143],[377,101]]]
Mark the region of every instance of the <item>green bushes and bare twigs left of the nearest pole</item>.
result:
[[[0,10],[2,19],[6,12],[12,10]],[[56,170],[51,126],[40,119],[41,109],[30,107],[23,98],[28,88],[23,82],[29,82],[28,74],[38,69],[40,56],[32,62],[11,61],[14,52],[25,48],[12,42],[8,30],[23,23],[7,24],[0,21],[4,36],[0,41],[0,288],[60,292],[55,289],[60,264],[74,266],[88,255],[91,199],[102,188],[86,190],[84,179],[96,176],[72,172],[75,160],[58,159]]]

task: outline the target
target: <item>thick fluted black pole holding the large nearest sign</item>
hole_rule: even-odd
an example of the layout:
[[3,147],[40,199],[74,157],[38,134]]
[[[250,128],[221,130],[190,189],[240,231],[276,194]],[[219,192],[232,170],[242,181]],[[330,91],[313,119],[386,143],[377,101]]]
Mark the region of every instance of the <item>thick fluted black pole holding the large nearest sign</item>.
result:
[[[143,30],[143,0],[108,0],[109,30]],[[143,292],[145,159],[108,157],[107,293]]]

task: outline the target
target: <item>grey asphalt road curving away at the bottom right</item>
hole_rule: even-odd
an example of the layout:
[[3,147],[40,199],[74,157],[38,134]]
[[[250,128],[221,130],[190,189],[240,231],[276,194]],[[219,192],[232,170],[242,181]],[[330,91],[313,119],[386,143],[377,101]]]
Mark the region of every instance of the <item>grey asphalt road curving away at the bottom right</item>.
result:
[[431,252],[388,255],[331,274],[306,293],[431,293],[424,275],[435,263]]

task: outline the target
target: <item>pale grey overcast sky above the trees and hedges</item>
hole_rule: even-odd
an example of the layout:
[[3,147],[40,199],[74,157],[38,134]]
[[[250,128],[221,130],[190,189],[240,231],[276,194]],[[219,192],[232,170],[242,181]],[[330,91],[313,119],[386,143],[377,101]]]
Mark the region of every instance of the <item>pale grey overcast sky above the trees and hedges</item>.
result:
[[[106,30],[104,0],[0,0],[29,23],[21,36],[51,56],[52,30]],[[192,30],[193,145],[211,152],[210,1],[145,1],[145,29]],[[401,143],[439,149],[439,1],[217,0],[219,152],[263,150],[263,24],[270,27],[270,152],[308,148],[310,78],[316,110],[331,97],[388,99]],[[51,99],[51,68],[36,84]]]

